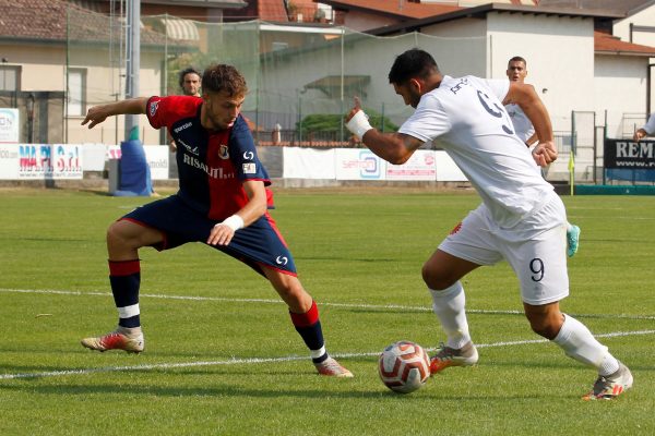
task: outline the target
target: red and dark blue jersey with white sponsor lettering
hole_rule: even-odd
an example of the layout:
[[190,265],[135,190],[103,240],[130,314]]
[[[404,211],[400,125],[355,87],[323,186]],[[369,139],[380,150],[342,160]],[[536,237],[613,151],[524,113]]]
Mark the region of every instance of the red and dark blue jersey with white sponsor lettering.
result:
[[153,128],[167,128],[177,145],[178,195],[207,218],[223,220],[248,203],[243,181],[271,181],[243,117],[231,128],[211,131],[201,124],[202,104],[198,97],[155,96],[147,100],[146,116]]

